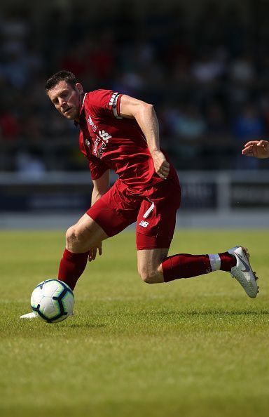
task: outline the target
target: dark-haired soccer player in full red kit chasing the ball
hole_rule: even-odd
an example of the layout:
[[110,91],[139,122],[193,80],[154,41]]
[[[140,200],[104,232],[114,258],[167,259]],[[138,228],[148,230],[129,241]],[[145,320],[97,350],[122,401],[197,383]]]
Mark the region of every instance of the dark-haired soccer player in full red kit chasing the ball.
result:
[[[102,254],[102,241],[137,221],[137,265],[144,282],[170,282],[223,270],[249,297],[256,297],[256,276],[242,246],[224,253],[168,256],[181,192],[177,173],[160,148],[152,105],[116,91],[84,93],[68,71],[50,77],[46,92],[56,110],[80,127],[79,146],[93,183],[92,206],[67,230],[59,279],[74,289],[87,261],[95,260],[97,252]],[[118,174],[111,188],[110,169]]]

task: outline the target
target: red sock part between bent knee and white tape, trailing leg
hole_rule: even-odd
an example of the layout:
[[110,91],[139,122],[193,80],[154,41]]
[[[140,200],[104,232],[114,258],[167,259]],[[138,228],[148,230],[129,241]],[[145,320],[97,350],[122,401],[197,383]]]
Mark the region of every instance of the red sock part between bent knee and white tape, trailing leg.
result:
[[197,277],[212,272],[208,255],[179,255],[169,256],[163,263],[163,277],[165,282],[179,278]]

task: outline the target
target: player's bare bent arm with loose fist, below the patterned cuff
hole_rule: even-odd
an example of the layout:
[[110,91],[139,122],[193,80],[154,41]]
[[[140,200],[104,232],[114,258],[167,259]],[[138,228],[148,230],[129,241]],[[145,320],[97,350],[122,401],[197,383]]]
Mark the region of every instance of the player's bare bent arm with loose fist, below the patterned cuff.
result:
[[170,164],[160,151],[159,124],[153,105],[124,94],[120,99],[120,116],[136,119],[146,138],[156,173],[160,178],[167,178]]

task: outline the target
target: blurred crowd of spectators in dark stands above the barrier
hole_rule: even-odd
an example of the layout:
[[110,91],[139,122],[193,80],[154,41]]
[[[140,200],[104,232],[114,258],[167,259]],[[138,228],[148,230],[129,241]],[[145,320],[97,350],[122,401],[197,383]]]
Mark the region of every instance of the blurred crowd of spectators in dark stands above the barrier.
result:
[[0,170],[27,163],[40,173],[83,169],[74,125],[57,117],[43,90],[59,69],[74,72],[87,90],[113,88],[152,102],[177,168],[262,166],[241,158],[240,147],[269,133],[263,16],[246,19],[247,8],[243,15],[239,5],[220,8],[216,0],[196,14],[151,0],[103,6],[97,13],[97,6],[57,1],[43,6],[44,13],[37,3],[2,12]]

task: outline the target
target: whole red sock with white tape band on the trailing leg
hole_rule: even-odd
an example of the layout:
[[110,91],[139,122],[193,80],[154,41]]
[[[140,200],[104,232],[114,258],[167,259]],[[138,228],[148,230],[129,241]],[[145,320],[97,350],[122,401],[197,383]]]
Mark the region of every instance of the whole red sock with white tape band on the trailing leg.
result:
[[217,255],[180,253],[179,255],[169,256],[162,263],[165,282],[180,278],[197,277],[215,270],[230,271],[235,265],[235,257],[228,252]]

